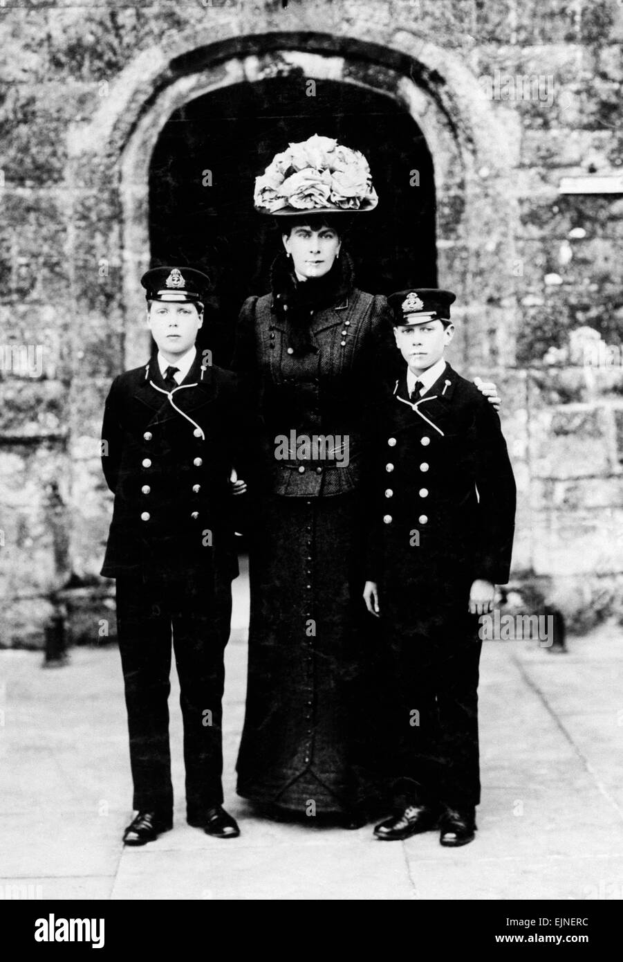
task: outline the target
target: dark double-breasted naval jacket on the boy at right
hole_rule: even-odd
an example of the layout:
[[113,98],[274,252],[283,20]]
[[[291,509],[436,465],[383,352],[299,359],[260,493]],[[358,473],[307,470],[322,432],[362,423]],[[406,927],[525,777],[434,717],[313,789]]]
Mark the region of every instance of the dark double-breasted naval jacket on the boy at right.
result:
[[373,438],[366,577],[404,588],[505,584],[515,483],[486,397],[446,365],[411,404],[405,371],[386,391]]

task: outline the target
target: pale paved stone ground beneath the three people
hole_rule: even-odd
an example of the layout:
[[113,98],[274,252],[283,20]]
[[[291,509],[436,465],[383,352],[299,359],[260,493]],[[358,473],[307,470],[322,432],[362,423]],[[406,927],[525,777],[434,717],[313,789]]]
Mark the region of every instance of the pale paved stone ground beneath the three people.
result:
[[[382,844],[359,831],[262,821],[234,790],[243,715],[245,583],[227,651],[226,804],[242,836],[184,821],[182,732],[171,696],[176,825],[124,849],[131,798],[118,652],[0,652],[0,894],[43,899],[621,899],[623,644],[605,625],[554,655],[484,646],[484,801],[473,845],[436,833]],[[2,716],[0,715],[0,720]],[[6,889],[5,886],[10,886]],[[17,886],[17,888],[14,888]],[[29,886],[33,886],[29,889]]]

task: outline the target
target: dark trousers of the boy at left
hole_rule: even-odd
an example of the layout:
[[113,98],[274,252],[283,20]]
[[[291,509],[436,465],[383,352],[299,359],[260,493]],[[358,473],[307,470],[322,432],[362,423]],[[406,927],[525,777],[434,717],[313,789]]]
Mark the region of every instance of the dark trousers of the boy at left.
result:
[[221,698],[223,650],[232,614],[231,581],[117,578],[117,630],[125,682],[134,808],[173,810],[168,737],[171,637],[184,722],[187,814],[223,800]]

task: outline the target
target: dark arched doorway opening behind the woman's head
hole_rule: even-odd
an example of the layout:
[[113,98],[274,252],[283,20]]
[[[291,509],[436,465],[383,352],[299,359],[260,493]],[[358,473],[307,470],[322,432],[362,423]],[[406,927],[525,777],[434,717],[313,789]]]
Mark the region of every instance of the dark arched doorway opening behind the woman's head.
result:
[[[367,158],[378,208],[355,217],[348,238],[358,284],[388,293],[436,286],[433,160],[411,114],[392,97],[304,77],[238,84],[172,114],[149,176],[152,266],[187,264],[213,282],[204,344],[226,364],[235,319],[249,294],[268,290],[280,248],[275,221],[253,210],[253,186],[277,151],[312,134],[335,137]],[[212,174],[212,186],[204,186]],[[420,186],[411,186],[417,171]]]

